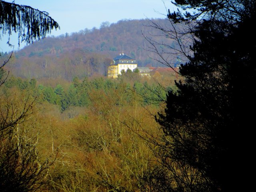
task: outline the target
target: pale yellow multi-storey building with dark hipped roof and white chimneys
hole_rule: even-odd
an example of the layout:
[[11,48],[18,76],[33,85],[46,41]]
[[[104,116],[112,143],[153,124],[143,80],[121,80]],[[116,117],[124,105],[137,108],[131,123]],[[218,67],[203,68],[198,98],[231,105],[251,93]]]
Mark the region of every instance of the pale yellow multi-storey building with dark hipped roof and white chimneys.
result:
[[117,78],[121,74],[121,71],[127,69],[134,70],[137,67],[137,62],[134,58],[131,58],[124,53],[116,56],[113,62],[108,66],[108,78]]

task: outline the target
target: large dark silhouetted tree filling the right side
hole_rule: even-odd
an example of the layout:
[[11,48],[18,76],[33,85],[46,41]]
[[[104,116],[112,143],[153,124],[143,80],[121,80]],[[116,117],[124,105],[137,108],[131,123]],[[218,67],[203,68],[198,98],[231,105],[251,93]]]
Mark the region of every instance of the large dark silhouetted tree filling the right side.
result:
[[[188,48],[192,54],[183,55],[188,60],[180,67],[185,79],[176,82],[177,91],[168,91],[166,108],[156,116],[163,134],[151,142],[161,165],[144,179],[156,184],[154,191],[242,189],[248,169],[244,150],[252,145],[248,133],[256,107],[256,38],[250,36],[248,42],[243,37],[255,22],[256,1],[177,0],[174,4],[188,10],[168,13],[174,29],[178,28],[174,23],[193,22],[192,44],[180,46],[180,52]],[[172,33],[179,44],[177,31]],[[152,50],[162,56],[156,47]]]

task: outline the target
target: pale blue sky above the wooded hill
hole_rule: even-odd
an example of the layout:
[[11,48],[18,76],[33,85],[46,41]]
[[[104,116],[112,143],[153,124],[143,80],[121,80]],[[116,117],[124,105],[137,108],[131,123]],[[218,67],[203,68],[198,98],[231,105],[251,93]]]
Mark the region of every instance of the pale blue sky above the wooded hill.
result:
[[[15,0],[14,3],[48,12],[60,25],[60,30],[52,30],[50,36],[99,28],[106,21],[111,24],[122,19],[166,18],[168,9],[176,9],[170,0]],[[0,52],[12,50],[7,41],[6,36],[0,40]],[[12,36],[10,43],[14,50],[19,49],[17,36]]]

